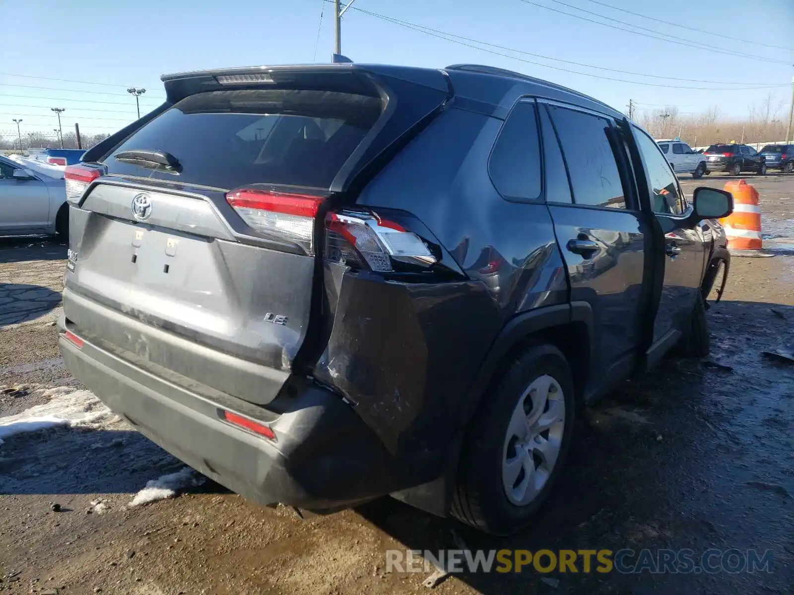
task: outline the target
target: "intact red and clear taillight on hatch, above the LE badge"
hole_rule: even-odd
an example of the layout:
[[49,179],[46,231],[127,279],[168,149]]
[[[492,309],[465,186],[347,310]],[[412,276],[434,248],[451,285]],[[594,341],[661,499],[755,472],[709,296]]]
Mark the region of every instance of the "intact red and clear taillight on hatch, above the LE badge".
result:
[[314,254],[314,217],[322,198],[273,190],[235,190],[226,194],[243,221],[257,232],[298,244]]

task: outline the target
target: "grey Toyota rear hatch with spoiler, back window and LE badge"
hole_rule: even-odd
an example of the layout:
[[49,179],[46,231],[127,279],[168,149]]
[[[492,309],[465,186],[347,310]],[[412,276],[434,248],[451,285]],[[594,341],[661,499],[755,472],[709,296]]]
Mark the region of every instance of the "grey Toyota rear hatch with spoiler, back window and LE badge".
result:
[[[67,328],[198,393],[267,404],[321,351],[332,205],[446,100],[438,71],[164,78],[168,105],[67,170]],[[69,174],[71,171],[71,175]]]

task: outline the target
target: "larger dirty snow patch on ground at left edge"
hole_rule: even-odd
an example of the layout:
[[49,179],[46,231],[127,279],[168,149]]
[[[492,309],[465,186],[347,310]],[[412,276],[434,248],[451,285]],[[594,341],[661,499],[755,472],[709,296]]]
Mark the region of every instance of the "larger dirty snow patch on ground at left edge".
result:
[[17,415],[0,417],[0,444],[17,434],[58,426],[102,429],[120,419],[88,390],[58,386],[45,390],[42,395],[51,397],[50,401]]

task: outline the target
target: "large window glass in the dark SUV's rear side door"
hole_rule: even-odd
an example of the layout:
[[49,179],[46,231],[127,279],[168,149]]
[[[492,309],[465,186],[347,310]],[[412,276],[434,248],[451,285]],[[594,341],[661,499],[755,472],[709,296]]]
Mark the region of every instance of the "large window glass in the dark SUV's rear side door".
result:
[[549,106],[562,144],[577,205],[626,208],[615,153],[607,138],[609,121],[588,113]]

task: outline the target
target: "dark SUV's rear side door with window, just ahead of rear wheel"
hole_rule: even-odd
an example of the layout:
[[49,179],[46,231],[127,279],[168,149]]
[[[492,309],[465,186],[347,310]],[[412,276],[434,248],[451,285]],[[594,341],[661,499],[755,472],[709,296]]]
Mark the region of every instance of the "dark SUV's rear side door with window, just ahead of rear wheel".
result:
[[559,202],[549,197],[549,211],[568,269],[571,301],[592,309],[592,377],[608,384],[630,370],[641,339],[649,231],[626,174],[615,122],[571,106],[540,105],[560,141],[571,190],[557,194]]

